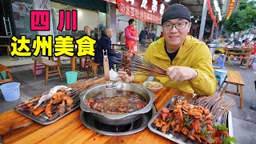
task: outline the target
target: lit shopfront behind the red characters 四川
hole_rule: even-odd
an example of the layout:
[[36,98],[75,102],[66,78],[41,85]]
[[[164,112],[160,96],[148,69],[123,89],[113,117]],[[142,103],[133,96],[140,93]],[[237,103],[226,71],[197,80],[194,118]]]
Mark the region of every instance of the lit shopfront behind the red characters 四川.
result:
[[[86,0],[81,2],[68,0],[1,0],[1,3],[3,4],[0,7],[2,11],[1,16],[6,18],[6,21],[0,20],[0,26],[4,28],[0,33],[0,44],[10,44],[13,35],[17,38],[25,35],[31,41],[36,35],[71,35],[74,38],[80,38],[85,34],[84,26],[89,26],[91,37],[98,39],[101,37],[102,30],[106,27],[106,2],[102,0]],[[50,10],[49,31],[33,31],[30,29],[31,10]],[[78,11],[78,27],[76,31],[66,30],[65,26],[63,30],[57,30],[59,10]],[[28,46],[31,48],[31,43]],[[6,62],[7,66],[24,65],[33,62],[31,57],[14,56],[14,58],[11,58],[7,54],[6,47],[0,47],[0,49],[2,50],[0,51],[1,62]],[[30,50],[33,51],[33,49]]]

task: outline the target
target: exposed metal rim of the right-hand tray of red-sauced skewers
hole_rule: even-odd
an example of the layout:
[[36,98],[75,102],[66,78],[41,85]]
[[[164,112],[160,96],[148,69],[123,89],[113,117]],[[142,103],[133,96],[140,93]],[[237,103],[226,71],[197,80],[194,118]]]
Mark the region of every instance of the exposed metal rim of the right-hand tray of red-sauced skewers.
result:
[[[174,98],[170,98],[170,101],[166,103],[166,105],[164,107],[169,107],[170,104],[174,101]],[[149,129],[154,132],[155,134],[159,134],[161,135],[162,137],[164,138],[168,138],[170,139],[171,141],[173,142],[177,142],[179,144],[190,144],[190,143],[199,143],[198,141],[192,141],[190,139],[186,139],[186,136],[182,133],[178,133],[178,132],[174,132],[174,135],[173,134],[164,134],[162,133],[162,131],[160,130],[157,130],[153,127],[153,122],[154,122],[154,119],[155,118],[158,118],[158,115],[161,114],[159,111],[158,113],[154,114],[154,117],[150,119],[150,122],[148,123],[148,127]],[[228,111],[228,113],[226,114],[226,116],[222,115],[220,117],[218,117],[218,123],[219,124],[223,124],[224,122],[224,117],[226,117],[226,124],[227,124],[227,127],[229,128],[229,134],[230,134],[230,137],[233,137],[233,123],[232,123],[232,114],[231,114],[231,111]],[[184,141],[186,140],[186,141]]]

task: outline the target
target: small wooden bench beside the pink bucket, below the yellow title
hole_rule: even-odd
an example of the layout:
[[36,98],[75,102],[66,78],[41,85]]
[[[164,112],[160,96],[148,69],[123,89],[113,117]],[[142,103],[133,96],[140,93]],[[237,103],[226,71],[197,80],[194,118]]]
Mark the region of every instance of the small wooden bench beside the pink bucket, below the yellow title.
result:
[[[62,75],[61,75],[61,70],[60,70],[60,64],[58,64],[58,62],[54,62],[54,61],[50,61],[48,59],[45,58],[33,58],[34,60],[34,78],[36,78],[36,70],[38,70],[41,66],[37,66],[37,62],[42,63],[46,66],[46,81],[45,81],[45,85],[47,85],[48,82],[48,77],[49,76],[54,76],[54,75],[58,75],[59,78],[61,78],[62,81]],[[56,67],[56,69],[54,70],[50,70],[50,67]]]

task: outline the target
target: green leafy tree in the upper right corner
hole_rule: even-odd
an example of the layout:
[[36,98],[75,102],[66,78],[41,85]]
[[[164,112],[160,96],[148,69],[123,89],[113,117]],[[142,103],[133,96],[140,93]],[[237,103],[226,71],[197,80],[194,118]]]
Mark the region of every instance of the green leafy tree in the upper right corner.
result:
[[247,30],[252,26],[256,26],[256,2],[242,0],[238,6],[238,10],[231,14],[230,19],[224,22],[224,30],[229,33]]

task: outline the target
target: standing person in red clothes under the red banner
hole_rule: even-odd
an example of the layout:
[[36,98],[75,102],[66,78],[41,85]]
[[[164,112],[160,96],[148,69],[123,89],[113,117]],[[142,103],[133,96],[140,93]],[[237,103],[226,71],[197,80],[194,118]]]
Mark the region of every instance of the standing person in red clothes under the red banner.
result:
[[130,51],[137,52],[137,42],[138,42],[138,31],[134,28],[136,26],[136,22],[133,18],[129,20],[129,26],[125,29],[126,35],[126,46],[129,47]]

